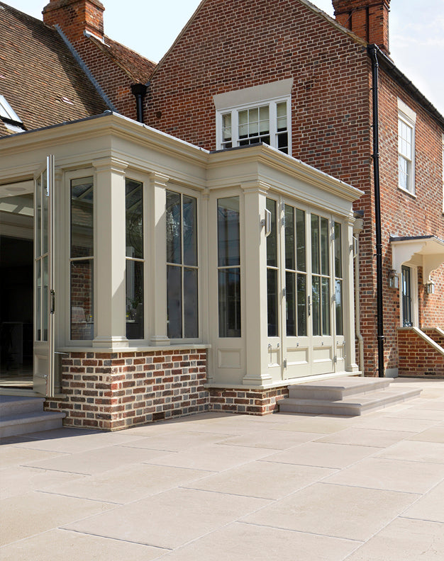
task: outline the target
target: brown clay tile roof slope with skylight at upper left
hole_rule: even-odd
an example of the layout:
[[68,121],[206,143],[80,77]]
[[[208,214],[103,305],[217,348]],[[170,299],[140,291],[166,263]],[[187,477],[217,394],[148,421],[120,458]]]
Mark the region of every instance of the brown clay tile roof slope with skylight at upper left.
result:
[[[98,115],[107,109],[57,31],[3,2],[0,94],[26,130]],[[0,122],[0,136],[9,134]]]

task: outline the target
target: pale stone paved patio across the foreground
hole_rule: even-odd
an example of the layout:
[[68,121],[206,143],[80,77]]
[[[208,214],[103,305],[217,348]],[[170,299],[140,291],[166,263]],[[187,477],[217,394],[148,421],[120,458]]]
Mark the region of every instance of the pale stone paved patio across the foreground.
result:
[[1,561],[441,561],[444,380],[359,417],[5,438]]

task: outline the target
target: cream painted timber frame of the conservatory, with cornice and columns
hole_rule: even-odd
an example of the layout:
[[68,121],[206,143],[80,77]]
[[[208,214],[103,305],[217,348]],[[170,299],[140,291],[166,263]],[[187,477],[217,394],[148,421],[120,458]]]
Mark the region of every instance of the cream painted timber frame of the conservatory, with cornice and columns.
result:
[[[353,241],[353,200],[359,198],[360,191],[267,145],[210,153],[113,113],[1,138],[0,184],[30,179],[48,153],[55,155],[58,178],[56,203],[60,220],[56,224],[56,242],[60,243],[56,249],[56,262],[64,263],[59,266],[56,279],[57,351],[87,351],[91,347],[107,352],[143,351],[175,344],[176,341],[169,341],[166,337],[163,197],[166,188],[172,191],[185,189],[196,196],[200,205],[200,342],[189,343],[189,346],[211,346],[209,385],[248,388],[287,385],[289,382],[281,376],[274,378],[268,368],[266,238],[265,228],[260,223],[265,217],[267,196],[288,198],[296,201],[296,205],[300,201],[309,208],[338,217],[338,221],[343,223],[344,282],[348,279],[348,286],[344,285],[344,295],[348,298],[344,302],[345,306],[348,305],[344,311],[345,372],[357,372],[350,248]],[[104,259],[94,281],[94,315],[99,320],[92,343],[74,344],[72,341],[70,344],[67,339],[70,321],[67,266],[69,186],[70,179],[91,175],[96,186],[96,221],[105,225],[94,248],[94,259]],[[148,270],[153,274],[151,277],[147,274],[145,281],[148,283],[145,309],[148,329],[143,346],[133,346],[126,340],[123,282],[126,176],[136,180],[143,178],[145,191],[149,193],[146,197],[148,252],[145,259]],[[228,196],[240,197],[242,333],[240,338],[222,341],[217,336],[217,232],[214,218],[216,200]],[[155,201],[154,205],[152,201]],[[116,228],[111,229],[111,225],[116,225]],[[108,260],[111,262],[107,263]],[[103,267],[104,263],[108,267]],[[60,302],[65,302],[65,305]],[[110,306],[112,310],[106,310]],[[179,345],[183,348],[182,341]],[[218,368],[219,363],[228,368]]]

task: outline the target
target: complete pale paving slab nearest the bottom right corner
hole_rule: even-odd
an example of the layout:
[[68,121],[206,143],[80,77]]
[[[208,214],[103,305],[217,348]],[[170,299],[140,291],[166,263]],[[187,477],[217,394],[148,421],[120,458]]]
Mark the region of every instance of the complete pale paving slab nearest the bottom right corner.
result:
[[413,493],[314,483],[241,521],[364,541],[418,497]]

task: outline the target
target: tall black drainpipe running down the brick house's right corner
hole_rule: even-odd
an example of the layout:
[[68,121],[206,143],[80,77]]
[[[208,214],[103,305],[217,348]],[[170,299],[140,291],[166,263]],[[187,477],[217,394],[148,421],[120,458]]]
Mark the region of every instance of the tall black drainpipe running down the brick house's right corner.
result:
[[373,97],[373,175],[374,175],[374,219],[376,222],[376,277],[377,277],[377,329],[378,329],[378,375],[384,378],[384,311],[382,306],[382,239],[381,239],[381,197],[379,190],[379,106],[378,106],[378,47],[367,47],[372,59]]

